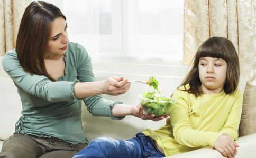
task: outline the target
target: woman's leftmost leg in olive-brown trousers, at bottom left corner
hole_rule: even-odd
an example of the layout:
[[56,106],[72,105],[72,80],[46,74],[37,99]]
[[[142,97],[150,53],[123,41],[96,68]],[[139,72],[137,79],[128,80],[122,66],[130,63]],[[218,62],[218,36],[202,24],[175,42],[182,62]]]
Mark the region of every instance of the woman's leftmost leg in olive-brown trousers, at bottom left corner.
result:
[[3,143],[0,157],[39,157],[43,154],[41,147],[28,135],[13,134]]

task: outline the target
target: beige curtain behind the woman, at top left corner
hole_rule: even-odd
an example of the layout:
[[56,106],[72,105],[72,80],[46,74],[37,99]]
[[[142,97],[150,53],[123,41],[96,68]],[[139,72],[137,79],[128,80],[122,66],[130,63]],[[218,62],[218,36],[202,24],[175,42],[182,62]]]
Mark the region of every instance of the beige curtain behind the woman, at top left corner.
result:
[[15,47],[23,12],[30,0],[0,0],[0,56]]

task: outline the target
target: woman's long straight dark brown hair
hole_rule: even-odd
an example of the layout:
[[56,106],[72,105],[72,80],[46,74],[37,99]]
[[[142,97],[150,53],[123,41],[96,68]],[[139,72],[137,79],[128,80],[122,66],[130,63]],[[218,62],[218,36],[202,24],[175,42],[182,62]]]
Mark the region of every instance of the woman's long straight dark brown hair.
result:
[[30,3],[22,16],[16,40],[17,58],[21,67],[31,74],[47,76],[51,81],[55,80],[45,68],[44,55],[50,40],[52,22],[58,17],[66,20],[58,7],[43,1]]

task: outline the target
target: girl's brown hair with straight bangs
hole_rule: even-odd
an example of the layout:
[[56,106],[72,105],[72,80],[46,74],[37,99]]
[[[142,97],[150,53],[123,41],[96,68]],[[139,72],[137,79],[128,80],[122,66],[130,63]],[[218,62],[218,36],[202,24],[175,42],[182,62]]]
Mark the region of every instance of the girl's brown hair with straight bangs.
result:
[[186,89],[185,87],[184,91],[194,94],[196,97],[203,94],[200,88],[202,83],[199,79],[198,71],[199,60],[202,57],[222,58],[225,60],[227,63],[227,74],[224,92],[226,94],[233,93],[239,83],[239,57],[232,42],[224,37],[211,37],[200,45],[193,58],[193,66],[181,83],[181,86],[190,85],[190,88]]

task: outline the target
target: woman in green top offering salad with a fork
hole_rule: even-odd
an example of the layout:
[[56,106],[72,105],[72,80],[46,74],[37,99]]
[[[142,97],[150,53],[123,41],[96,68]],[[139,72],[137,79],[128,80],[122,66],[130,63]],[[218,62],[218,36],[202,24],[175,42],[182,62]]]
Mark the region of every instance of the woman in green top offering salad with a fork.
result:
[[6,53],[3,67],[17,86],[23,115],[15,133],[4,141],[0,157],[75,155],[88,143],[80,120],[82,99],[94,116],[164,118],[100,95],[123,94],[130,83],[122,77],[95,82],[88,53],[69,42],[66,17],[52,4],[32,2],[25,9],[16,49]]

